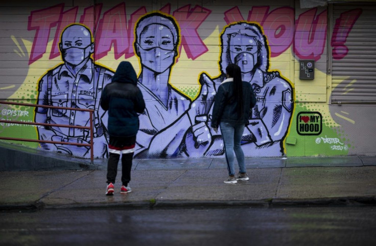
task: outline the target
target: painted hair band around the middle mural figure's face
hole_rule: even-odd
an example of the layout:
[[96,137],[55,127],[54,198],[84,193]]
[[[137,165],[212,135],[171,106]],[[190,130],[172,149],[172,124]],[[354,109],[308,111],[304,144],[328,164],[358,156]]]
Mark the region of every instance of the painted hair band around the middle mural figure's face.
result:
[[[163,15],[161,13],[152,13],[140,18],[136,24],[135,44],[139,43],[140,36],[145,28],[151,24],[160,24],[166,26],[174,36],[174,46],[177,47],[179,43],[179,29],[173,17]],[[134,44],[134,45],[135,45]]]

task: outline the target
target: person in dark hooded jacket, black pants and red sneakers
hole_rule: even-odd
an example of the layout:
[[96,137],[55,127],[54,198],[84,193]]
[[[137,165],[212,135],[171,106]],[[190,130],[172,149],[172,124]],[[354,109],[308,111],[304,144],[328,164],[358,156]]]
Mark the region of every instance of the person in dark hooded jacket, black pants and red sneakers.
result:
[[[131,192],[131,168],[139,128],[138,114],[145,110],[143,94],[137,87],[137,75],[132,64],[121,62],[101,96],[101,107],[108,111],[109,159],[107,163],[106,195],[113,195],[117,164],[122,155],[121,194]],[[138,113],[138,114],[137,114]]]

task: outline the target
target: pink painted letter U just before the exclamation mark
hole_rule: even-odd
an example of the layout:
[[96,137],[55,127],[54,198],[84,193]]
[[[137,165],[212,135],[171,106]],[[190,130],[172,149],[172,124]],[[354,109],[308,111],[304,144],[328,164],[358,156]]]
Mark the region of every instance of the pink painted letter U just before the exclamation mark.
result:
[[296,21],[295,54],[300,59],[319,60],[326,42],[326,10],[316,18],[317,9],[302,13]]

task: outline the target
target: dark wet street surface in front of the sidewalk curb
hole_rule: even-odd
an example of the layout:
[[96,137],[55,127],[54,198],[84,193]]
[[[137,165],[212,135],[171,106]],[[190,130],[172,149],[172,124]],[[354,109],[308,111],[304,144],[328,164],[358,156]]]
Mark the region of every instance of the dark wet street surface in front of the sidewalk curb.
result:
[[0,245],[376,245],[375,206],[1,211]]

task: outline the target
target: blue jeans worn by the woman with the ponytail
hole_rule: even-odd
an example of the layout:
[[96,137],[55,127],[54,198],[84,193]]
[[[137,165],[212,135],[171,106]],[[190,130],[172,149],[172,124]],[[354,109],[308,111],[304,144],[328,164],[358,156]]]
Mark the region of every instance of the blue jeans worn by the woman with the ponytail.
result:
[[225,145],[228,175],[235,175],[234,152],[238,160],[239,172],[245,173],[244,153],[240,146],[245,125],[221,122],[220,127]]

